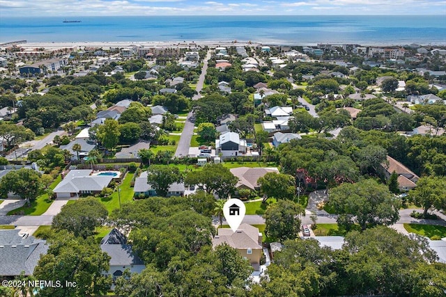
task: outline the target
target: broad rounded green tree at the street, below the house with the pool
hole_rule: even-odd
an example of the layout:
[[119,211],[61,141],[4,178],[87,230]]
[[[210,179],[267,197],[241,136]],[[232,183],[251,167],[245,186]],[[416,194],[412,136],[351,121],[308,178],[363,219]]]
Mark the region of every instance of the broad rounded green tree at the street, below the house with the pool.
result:
[[104,204],[90,197],[64,205],[61,212],[54,216],[52,227],[54,230],[67,230],[86,239],[94,234],[95,227],[105,222],[107,216],[108,211]]

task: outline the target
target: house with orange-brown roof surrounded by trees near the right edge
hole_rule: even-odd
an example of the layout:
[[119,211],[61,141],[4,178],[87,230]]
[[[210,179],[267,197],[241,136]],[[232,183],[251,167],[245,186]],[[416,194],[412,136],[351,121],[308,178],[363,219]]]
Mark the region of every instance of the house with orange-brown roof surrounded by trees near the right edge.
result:
[[381,164],[384,169],[384,175],[386,179],[390,178],[392,172],[396,172],[398,175],[398,184],[400,191],[409,191],[415,188],[416,182],[418,182],[418,175],[415,175],[412,170],[404,166],[399,161],[393,159],[391,156],[387,156],[387,161]]

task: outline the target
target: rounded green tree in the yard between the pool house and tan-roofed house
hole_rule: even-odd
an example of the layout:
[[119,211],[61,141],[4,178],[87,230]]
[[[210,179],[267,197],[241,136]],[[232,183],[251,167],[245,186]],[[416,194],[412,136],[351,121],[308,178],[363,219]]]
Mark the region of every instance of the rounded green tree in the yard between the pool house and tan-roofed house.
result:
[[157,195],[167,197],[169,186],[174,182],[180,182],[182,175],[178,167],[165,165],[151,165],[147,169],[147,182],[156,191]]

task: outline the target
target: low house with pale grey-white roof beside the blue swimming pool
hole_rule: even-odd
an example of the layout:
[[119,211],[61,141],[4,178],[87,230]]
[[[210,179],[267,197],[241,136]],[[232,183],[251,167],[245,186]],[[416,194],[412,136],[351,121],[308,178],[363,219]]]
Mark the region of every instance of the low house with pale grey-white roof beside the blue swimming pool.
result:
[[112,175],[91,175],[93,170],[70,170],[54,188],[57,198],[79,197],[82,194],[99,194],[112,182]]

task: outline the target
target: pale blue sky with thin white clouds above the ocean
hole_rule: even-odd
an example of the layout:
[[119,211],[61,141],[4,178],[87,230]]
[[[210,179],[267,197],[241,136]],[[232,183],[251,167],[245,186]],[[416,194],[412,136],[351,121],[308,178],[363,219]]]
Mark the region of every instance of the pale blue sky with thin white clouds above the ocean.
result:
[[446,0],[0,0],[0,17],[445,15]]

